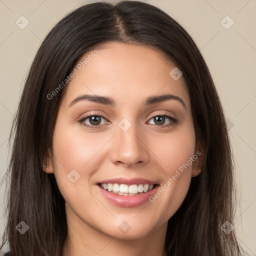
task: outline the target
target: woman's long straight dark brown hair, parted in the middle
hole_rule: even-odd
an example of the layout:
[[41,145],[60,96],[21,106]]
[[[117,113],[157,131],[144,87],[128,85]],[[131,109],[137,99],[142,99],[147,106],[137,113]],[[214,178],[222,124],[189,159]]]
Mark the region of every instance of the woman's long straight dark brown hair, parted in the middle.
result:
[[[140,1],[94,2],[62,18],[48,33],[30,67],[15,115],[6,174],[10,187],[3,244],[13,256],[59,256],[67,234],[64,199],[54,174],[42,170],[63,89],[49,94],[89,49],[107,41],[135,42],[162,50],[182,70],[190,95],[196,138],[205,162],[187,195],[168,220],[169,256],[241,255],[233,223],[233,160],[227,126],[209,70],[189,34],[159,8]],[[66,85],[68,86],[68,85]],[[7,175],[6,175],[7,176]],[[29,229],[15,229],[24,221]]]

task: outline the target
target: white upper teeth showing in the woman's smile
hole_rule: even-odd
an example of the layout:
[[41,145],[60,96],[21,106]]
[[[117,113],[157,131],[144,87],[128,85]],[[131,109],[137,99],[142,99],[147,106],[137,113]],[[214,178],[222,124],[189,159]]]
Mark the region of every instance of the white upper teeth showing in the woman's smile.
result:
[[100,186],[107,191],[112,191],[121,195],[136,195],[138,193],[150,191],[153,184],[117,184],[117,183],[101,183]]

